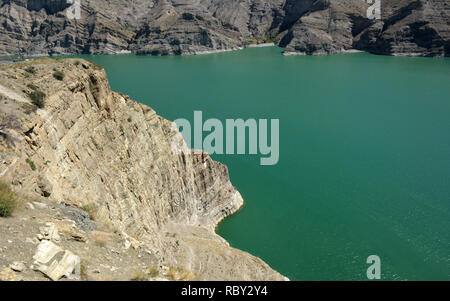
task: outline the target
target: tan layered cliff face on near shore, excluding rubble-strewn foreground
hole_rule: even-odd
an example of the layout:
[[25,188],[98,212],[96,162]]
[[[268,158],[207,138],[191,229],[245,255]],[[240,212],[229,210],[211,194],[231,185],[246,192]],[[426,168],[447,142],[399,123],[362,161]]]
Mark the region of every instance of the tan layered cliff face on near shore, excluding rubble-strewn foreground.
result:
[[[0,70],[0,79],[0,179],[16,192],[94,206],[128,244],[200,280],[284,279],[215,234],[243,204],[227,168],[204,153],[173,152],[176,126],[112,92],[101,68],[39,59]],[[28,97],[37,91],[42,109]]]

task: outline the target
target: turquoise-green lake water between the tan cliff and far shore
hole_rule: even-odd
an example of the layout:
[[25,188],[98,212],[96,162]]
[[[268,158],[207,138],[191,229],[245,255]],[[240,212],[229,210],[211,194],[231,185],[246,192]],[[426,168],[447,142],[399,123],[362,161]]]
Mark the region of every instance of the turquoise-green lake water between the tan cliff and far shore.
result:
[[246,205],[218,233],[293,280],[450,280],[450,60],[88,56],[175,120],[280,119],[280,161],[213,156]]

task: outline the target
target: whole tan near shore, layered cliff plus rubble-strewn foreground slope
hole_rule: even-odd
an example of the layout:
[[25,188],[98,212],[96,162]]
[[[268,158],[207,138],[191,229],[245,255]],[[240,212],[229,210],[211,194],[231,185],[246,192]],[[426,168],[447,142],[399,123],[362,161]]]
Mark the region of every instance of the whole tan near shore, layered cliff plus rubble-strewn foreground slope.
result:
[[[91,280],[286,280],[215,233],[243,205],[228,169],[174,154],[176,126],[111,91],[100,66],[36,59],[0,78],[0,181],[21,200],[0,218],[1,279],[55,280],[84,264]],[[67,256],[50,267],[52,250]]]

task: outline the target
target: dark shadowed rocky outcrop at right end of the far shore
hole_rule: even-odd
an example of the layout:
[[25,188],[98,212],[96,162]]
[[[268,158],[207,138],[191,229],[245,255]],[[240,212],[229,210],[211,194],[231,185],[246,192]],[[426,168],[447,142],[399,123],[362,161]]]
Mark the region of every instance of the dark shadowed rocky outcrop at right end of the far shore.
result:
[[354,47],[376,54],[450,56],[450,2],[394,0],[382,6],[383,20],[374,22]]

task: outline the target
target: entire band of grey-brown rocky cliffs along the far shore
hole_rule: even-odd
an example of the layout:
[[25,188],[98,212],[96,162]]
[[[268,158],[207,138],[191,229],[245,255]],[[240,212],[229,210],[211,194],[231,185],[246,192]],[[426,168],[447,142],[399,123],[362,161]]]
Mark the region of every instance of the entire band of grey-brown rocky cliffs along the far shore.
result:
[[81,0],[70,20],[64,0],[0,1],[0,55],[197,54],[275,41],[287,54],[363,50],[449,56],[450,3],[381,0],[381,20],[364,0]]

